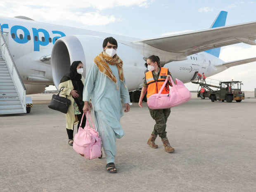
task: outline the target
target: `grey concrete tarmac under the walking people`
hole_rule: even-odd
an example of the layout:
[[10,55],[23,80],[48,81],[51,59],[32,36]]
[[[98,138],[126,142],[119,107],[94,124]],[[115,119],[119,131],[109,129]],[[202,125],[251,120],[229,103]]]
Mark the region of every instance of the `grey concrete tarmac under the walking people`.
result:
[[[30,114],[0,116],[1,192],[256,192],[256,99],[193,98],[171,109],[167,136],[175,152],[147,145],[154,120],[133,103],[116,141],[118,173],[106,158],[87,160],[68,145],[65,115],[52,94],[32,95]],[[251,92],[254,97],[254,92]],[[75,127],[76,130],[76,127]]]

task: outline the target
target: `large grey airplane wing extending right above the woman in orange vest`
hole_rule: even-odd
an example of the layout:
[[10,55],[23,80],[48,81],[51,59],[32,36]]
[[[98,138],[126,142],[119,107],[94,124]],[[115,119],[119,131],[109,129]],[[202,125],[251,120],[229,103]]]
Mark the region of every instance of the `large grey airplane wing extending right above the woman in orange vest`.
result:
[[[156,49],[170,52],[172,56],[192,55],[205,50],[232,45],[235,43],[247,43],[256,45],[256,21],[210,28],[189,33],[180,33],[171,36],[134,41],[133,43],[145,43]],[[150,49],[150,48],[148,48]],[[147,52],[145,50],[144,52]],[[182,59],[181,59],[182,60]],[[183,59],[184,60],[184,59]]]

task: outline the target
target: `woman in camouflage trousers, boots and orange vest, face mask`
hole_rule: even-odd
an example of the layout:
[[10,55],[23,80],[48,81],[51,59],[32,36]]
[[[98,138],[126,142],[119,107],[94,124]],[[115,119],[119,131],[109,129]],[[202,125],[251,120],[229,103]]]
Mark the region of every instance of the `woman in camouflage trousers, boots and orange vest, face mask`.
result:
[[[143,81],[143,87],[140,94],[140,101],[139,106],[142,107],[142,100],[147,92],[147,98],[149,98],[151,95],[158,93],[158,91],[161,89],[162,85],[164,84],[164,81],[166,78],[169,80],[169,82],[166,84],[165,88],[162,91],[162,94],[168,94],[169,93],[169,85],[171,85],[170,81],[170,72],[167,68],[160,66],[159,57],[155,55],[151,55],[147,59],[147,63],[145,63],[145,66],[147,67],[147,70],[145,71],[145,79]],[[154,130],[149,137],[149,140],[147,141],[147,144],[156,149],[158,148],[158,145],[155,144],[155,140],[157,135],[161,137],[161,140],[164,144],[164,149],[166,152],[171,153],[174,152],[174,148],[171,147],[168,138],[166,137],[166,121],[168,116],[171,113],[171,109],[149,109],[149,113],[152,116],[152,118],[156,121],[156,124],[154,126]]]

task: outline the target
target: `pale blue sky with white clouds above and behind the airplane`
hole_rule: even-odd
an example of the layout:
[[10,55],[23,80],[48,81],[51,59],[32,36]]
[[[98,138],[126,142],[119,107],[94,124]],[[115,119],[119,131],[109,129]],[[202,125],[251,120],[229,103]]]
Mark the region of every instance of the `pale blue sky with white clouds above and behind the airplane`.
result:
[[[136,38],[207,29],[227,11],[226,26],[256,21],[256,0],[1,0],[0,15],[104,31]],[[225,62],[256,57],[256,46],[243,43],[221,48]],[[242,90],[256,88],[256,62],[234,66],[210,78],[243,81]],[[192,83],[185,84],[197,90]]]

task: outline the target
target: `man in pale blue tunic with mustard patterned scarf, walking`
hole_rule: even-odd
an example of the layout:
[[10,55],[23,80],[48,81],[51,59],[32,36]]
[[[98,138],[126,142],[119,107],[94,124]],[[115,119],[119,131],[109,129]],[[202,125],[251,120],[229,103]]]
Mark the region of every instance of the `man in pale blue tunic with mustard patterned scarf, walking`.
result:
[[130,96],[123,76],[123,61],[116,55],[117,41],[104,39],[103,50],[94,58],[85,78],[83,89],[83,111],[90,112],[92,100],[97,131],[100,133],[107,159],[107,172],[116,173],[116,138],[125,135],[120,123],[123,116],[121,99],[125,104],[124,112],[130,110]]

